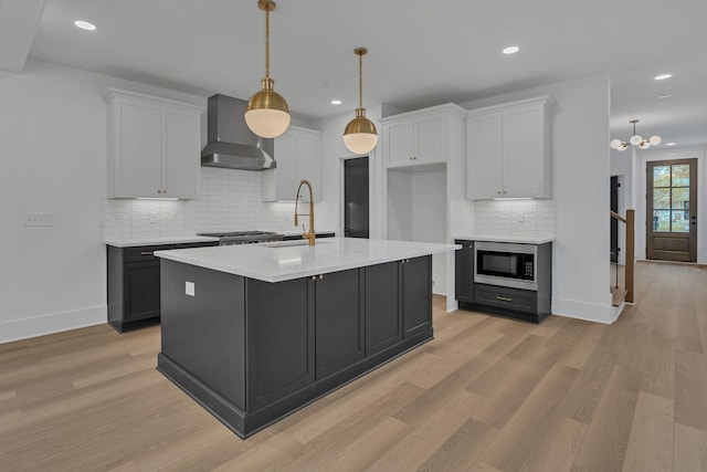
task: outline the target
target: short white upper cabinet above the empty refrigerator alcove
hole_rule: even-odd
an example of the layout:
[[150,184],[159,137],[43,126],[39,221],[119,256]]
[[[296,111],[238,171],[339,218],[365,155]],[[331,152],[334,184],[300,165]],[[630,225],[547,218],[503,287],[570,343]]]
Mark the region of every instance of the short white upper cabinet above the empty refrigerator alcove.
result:
[[449,120],[463,113],[463,108],[447,104],[382,118],[386,167],[446,162]]

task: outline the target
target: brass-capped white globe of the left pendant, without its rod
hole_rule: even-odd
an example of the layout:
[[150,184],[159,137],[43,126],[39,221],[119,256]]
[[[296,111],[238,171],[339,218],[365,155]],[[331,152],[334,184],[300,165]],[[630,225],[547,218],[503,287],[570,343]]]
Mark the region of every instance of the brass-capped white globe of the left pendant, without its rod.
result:
[[272,78],[263,78],[263,90],[249,99],[245,111],[247,127],[262,138],[275,138],[289,126],[287,102],[273,90],[274,83]]

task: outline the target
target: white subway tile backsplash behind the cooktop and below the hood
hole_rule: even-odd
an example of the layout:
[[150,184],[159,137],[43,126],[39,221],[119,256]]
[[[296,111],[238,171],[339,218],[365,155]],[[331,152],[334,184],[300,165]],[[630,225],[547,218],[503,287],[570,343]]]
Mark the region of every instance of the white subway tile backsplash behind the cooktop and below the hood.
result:
[[198,200],[106,199],[103,233],[113,239],[233,230],[293,233],[293,214],[292,202],[262,201],[261,172],[202,167]]

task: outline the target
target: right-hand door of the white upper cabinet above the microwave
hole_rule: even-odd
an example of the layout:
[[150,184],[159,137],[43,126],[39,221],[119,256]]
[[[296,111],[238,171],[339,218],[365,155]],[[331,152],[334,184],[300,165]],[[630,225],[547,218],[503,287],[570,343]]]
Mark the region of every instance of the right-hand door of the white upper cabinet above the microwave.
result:
[[504,112],[504,197],[544,197],[544,123],[540,106]]

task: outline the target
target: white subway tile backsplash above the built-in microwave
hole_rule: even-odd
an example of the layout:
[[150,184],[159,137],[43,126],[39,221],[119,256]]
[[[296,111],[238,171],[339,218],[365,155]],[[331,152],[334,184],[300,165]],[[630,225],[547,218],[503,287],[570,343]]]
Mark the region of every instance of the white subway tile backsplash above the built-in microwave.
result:
[[476,201],[474,234],[525,238],[553,237],[555,201]]

